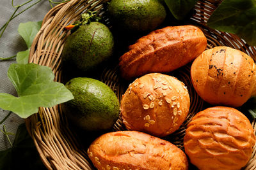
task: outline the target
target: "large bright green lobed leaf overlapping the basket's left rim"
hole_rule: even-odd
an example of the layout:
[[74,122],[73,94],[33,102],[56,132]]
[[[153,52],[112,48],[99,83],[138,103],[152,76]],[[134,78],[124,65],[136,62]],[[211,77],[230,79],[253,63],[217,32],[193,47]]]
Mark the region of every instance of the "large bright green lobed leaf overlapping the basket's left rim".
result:
[[52,107],[74,99],[72,93],[62,84],[53,81],[50,67],[37,64],[12,64],[8,69],[19,97],[0,93],[0,108],[10,110],[27,118],[38,112],[38,107]]

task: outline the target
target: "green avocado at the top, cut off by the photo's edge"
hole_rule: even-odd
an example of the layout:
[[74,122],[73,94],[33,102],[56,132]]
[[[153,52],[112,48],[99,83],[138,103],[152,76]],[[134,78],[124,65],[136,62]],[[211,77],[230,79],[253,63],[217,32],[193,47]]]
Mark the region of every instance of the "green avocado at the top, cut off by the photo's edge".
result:
[[112,0],[108,11],[117,27],[129,31],[152,31],[166,17],[164,6],[157,0]]

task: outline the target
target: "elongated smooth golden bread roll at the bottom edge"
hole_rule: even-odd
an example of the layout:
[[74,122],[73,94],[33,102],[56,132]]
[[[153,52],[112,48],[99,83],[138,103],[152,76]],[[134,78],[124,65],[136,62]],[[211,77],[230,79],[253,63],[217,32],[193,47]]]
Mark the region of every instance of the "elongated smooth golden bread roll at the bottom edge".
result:
[[97,169],[185,170],[184,152],[168,141],[143,132],[119,131],[93,141],[88,155]]

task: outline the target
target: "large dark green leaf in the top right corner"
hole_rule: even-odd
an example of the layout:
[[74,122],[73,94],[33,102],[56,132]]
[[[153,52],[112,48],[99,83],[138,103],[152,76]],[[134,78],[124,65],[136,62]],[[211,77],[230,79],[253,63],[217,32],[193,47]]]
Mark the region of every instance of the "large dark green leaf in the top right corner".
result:
[[256,1],[224,0],[212,13],[207,25],[212,29],[236,34],[256,45]]

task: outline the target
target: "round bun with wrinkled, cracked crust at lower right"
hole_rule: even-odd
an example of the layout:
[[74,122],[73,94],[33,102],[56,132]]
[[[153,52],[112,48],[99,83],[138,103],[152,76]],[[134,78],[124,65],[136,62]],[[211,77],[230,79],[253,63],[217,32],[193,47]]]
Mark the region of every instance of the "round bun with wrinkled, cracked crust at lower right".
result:
[[243,113],[224,106],[200,111],[188,124],[184,148],[201,170],[241,169],[250,160],[255,135]]

